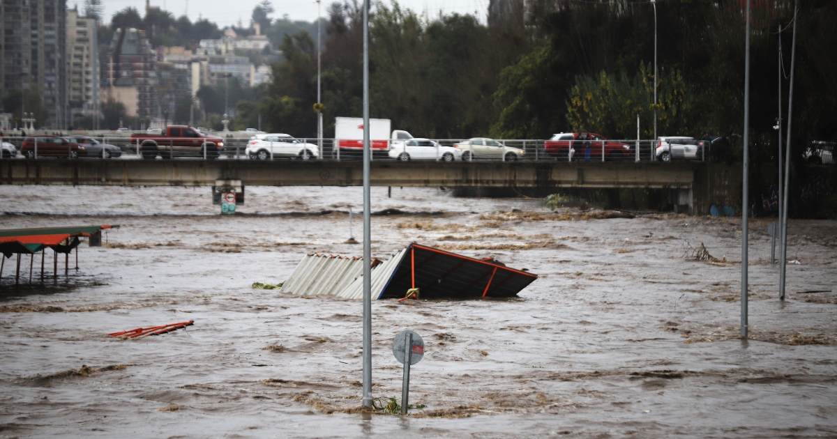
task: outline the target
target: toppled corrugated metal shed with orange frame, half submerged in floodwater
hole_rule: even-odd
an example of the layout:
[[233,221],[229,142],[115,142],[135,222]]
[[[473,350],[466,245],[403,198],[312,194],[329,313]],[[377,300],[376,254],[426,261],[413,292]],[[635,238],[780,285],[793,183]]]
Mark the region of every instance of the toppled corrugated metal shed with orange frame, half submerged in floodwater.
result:
[[[494,258],[470,258],[415,242],[386,260],[372,260],[372,299],[401,299],[419,288],[425,299],[511,297],[537,279]],[[363,297],[363,259],[311,253],[302,258],[282,290],[298,295]]]

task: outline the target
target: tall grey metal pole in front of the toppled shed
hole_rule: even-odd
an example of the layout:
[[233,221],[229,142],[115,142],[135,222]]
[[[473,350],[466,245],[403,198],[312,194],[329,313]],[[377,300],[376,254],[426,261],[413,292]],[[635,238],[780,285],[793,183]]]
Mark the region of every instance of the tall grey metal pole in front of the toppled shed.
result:
[[372,200],[369,167],[369,0],[363,2],[363,399],[372,406]]

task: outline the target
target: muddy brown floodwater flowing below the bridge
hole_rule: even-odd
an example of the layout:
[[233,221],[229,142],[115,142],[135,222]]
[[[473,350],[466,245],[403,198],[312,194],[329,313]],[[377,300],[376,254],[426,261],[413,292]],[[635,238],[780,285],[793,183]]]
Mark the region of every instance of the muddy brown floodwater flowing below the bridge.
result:
[[[768,223],[751,223],[742,341],[733,219],[372,188],[390,209],[372,217],[373,256],[417,241],[540,278],[511,300],[375,301],[373,394],[400,399],[391,343],[413,329],[410,401],[426,408],[370,415],[361,302],[251,288],[305,253],[362,254],[346,243],[362,189],[247,191],[243,215],[220,217],[208,188],[3,186],[0,228],[121,228],[80,248],[69,278],[14,288],[7,261],[0,436],[837,436],[835,222],[791,222],[784,302]],[[692,257],[701,242],[711,259]]]

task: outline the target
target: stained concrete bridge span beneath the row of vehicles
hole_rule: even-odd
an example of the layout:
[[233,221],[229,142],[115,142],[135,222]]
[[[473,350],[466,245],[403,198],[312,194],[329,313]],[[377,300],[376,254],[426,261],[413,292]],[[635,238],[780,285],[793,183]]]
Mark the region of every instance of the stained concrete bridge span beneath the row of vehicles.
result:
[[[708,212],[735,173],[705,162],[372,161],[372,186],[652,188],[672,204]],[[740,176],[737,177],[740,188]],[[361,161],[0,160],[2,185],[361,186]],[[707,204],[708,203],[708,204]]]

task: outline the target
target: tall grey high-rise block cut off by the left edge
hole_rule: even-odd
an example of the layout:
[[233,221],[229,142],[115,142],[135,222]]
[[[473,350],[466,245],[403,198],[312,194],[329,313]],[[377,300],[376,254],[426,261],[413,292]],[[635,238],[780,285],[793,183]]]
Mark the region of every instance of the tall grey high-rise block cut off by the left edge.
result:
[[[67,124],[66,0],[0,0],[0,93],[37,86],[47,120]],[[25,110],[25,109],[24,109]]]

